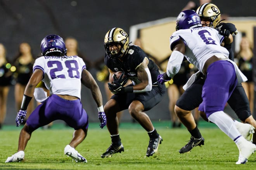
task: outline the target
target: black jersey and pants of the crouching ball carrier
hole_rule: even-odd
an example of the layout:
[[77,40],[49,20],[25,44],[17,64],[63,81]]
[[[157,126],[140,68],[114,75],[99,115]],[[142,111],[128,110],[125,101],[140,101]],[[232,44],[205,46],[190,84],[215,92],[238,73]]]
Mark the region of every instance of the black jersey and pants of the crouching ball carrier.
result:
[[[123,61],[118,58],[110,58],[105,54],[105,65],[112,71],[124,71],[125,75],[130,78],[133,83],[139,83],[136,68],[143,62],[144,58],[149,57],[138,46],[128,45],[127,53],[122,57]],[[148,68],[152,79],[152,90],[143,93],[123,93],[115,94],[111,99],[115,99],[120,105],[121,110],[128,109],[133,100],[138,100],[144,105],[144,111],[147,111],[158,104],[165,92],[165,86],[157,82],[157,76],[160,74],[157,65],[149,59]],[[130,84],[131,86],[133,84]]]

